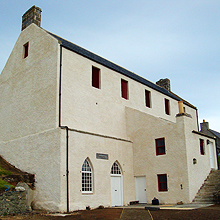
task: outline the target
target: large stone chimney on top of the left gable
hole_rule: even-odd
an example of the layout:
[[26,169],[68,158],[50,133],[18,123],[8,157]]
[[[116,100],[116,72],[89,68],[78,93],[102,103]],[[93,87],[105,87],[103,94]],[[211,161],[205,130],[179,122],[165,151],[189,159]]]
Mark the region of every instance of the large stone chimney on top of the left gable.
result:
[[36,24],[40,27],[41,23],[41,9],[32,6],[28,11],[26,11],[22,16],[22,31],[30,24]]

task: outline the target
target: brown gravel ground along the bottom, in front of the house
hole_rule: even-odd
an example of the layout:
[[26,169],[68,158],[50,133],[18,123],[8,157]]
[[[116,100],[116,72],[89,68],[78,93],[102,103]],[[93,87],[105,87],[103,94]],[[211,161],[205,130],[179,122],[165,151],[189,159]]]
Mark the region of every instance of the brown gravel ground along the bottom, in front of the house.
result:
[[158,210],[105,208],[73,212],[70,215],[32,212],[25,215],[0,217],[0,220],[220,220],[220,205],[193,210]]

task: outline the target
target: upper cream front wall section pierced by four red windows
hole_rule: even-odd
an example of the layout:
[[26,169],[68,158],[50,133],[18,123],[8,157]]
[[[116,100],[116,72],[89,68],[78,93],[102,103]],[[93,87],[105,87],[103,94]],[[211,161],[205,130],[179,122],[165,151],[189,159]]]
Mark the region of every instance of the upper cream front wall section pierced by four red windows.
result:
[[[62,60],[62,124],[126,139],[125,106],[176,121],[177,101],[65,48]],[[91,85],[92,66],[100,69],[100,89]],[[128,81],[128,100],[121,98],[121,78]],[[151,91],[152,108],[145,107],[145,89]],[[171,115],[165,114],[164,98]]]

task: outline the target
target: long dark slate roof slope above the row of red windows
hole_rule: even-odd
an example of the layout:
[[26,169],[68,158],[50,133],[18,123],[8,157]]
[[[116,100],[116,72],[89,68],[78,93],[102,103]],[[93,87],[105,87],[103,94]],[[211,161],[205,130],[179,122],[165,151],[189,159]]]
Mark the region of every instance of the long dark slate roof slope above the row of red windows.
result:
[[156,85],[156,84],[144,79],[143,77],[138,76],[137,74],[135,74],[135,73],[133,73],[133,72],[127,70],[127,69],[124,69],[124,68],[122,68],[122,67],[120,67],[120,66],[118,66],[118,65],[116,65],[116,64],[114,64],[114,63],[112,63],[112,62],[110,62],[110,61],[108,61],[108,60],[106,60],[106,59],[104,59],[104,58],[102,58],[102,57],[100,57],[100,56],[98,56],[98,55],[96,55],[96,54],[94,54],[94,53],[78,46],[78,45],[76,45],[76,44],[74,44],[74,43],[71,43],[71,42],[69,42],[69,41],[67,41],[67,40],[65,40],[65,39],[63,39],[63,38],[61,38],[61,37],[59,37],[59,36],[57,36],[53,33],[50,33],[48,31],[47,31],[47,33],[49,33],[51,36],[56,38],[64,48],[66,48],[68,50],[71,50],[71,51],[73,51],[73,52],[75,52],[75,53],[77,53],[81,56],[84,56],[84,57],[86,57],[86,58],[88,58],[92,61],[95,61],[95,62],[97,62],[97,63],[99,63],[99,64],[101,64],[105,67],[108,67],[109,69],[112,69],[112,70],[114,70],[118,73],[121,73],[124,76],[127,76],[127,77],[129,77],[129,78],[131,78],[131,79],[133,79],[133,80],[135,80],[139,83],[142,83],[143,85],[146,85],[146,86],[148,86],[148,87],[150,87],[150,88],[152,88],[152,89],[154,89],[154,90],[156,90],[156,91],[158,91],[158,92],[160,92],[164,95],[167,95],[167,96],[169,96],[169,97],[171,97],[171,98],[173,98],[177,101],[183,101],[184,104],[196,109],[195,106],[193,106],[189,102],[181,99],[179,96],[175,95],[174,93],[164,89],[163,87],[161,87],[159,85]]

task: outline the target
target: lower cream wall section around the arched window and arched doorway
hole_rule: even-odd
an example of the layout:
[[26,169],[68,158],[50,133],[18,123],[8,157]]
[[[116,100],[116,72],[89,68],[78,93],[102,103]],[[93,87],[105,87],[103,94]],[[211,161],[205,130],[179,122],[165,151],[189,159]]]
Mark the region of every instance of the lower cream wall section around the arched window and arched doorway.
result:
[[[96,153],[108,155],[97,159]],[[92,193],[82,192],[81,169],[85,159],[90,161],[93,176]],[[111,167],[117,161],[123,175],[123,204],[134,201],[132,143],[79,132],[69,132],[70,210],[97,208],[111,204]]]

